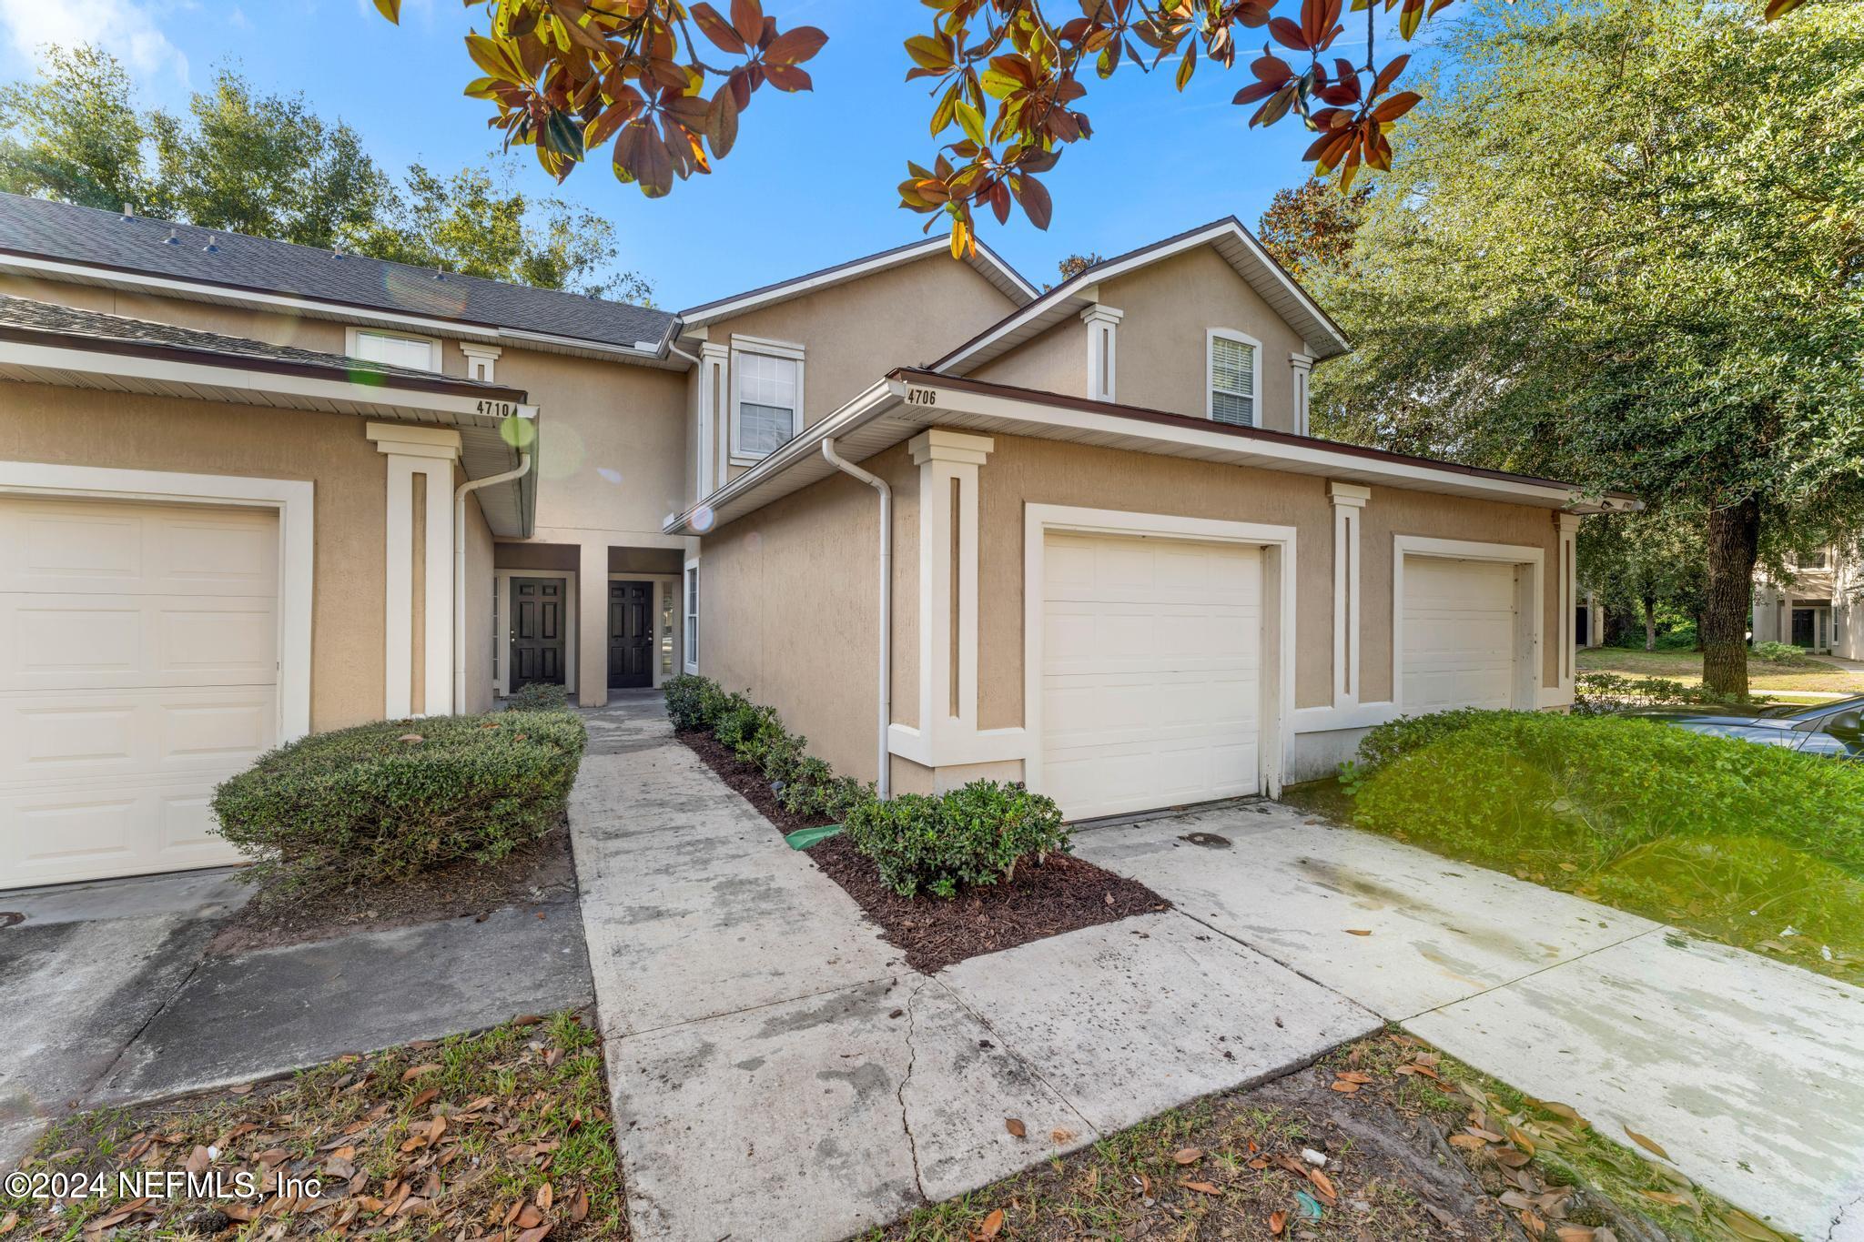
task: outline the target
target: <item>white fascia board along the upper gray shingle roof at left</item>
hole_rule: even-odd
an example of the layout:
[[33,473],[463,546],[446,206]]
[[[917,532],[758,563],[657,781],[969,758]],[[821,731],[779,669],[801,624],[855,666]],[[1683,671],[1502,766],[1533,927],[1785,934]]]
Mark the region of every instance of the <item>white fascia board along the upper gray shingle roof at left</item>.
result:
[[117,272],[114,268],[93,268],[82,263],[60,263],[56,259],[34,259],[28,255],[0,255],[0,272],[15,276],[34,276],[52,281],[80,285],[103,285],[108,289],[127,289],[132,292],[151,292],[185,302],[214,302],[220,305],[250,307],[254,311],[274,311],[280,315],[298,315],[309,318],[328,318],[341,324],[360,324],[365,328],[391,328],[397,331],[429,333],[455,337],[460,341],[485,343],[529,343],[542,348],[578,350],[623,361],[660,361],[658,343],[654,352],[610,344],[606,341],[587,341],[582,337],[559,337],[546,331],[526,331],[522,328],[494,328],[487,324],[466,324],[453,318],[431,318],[427,315],[403,315],[377,307],[350,305],[343,302],[321,302],[317,298],[298,298],[293,294],[263,292],[255,289],[229,289],[201,281],[185,281],[170,276],[147,276],[144,272]]

